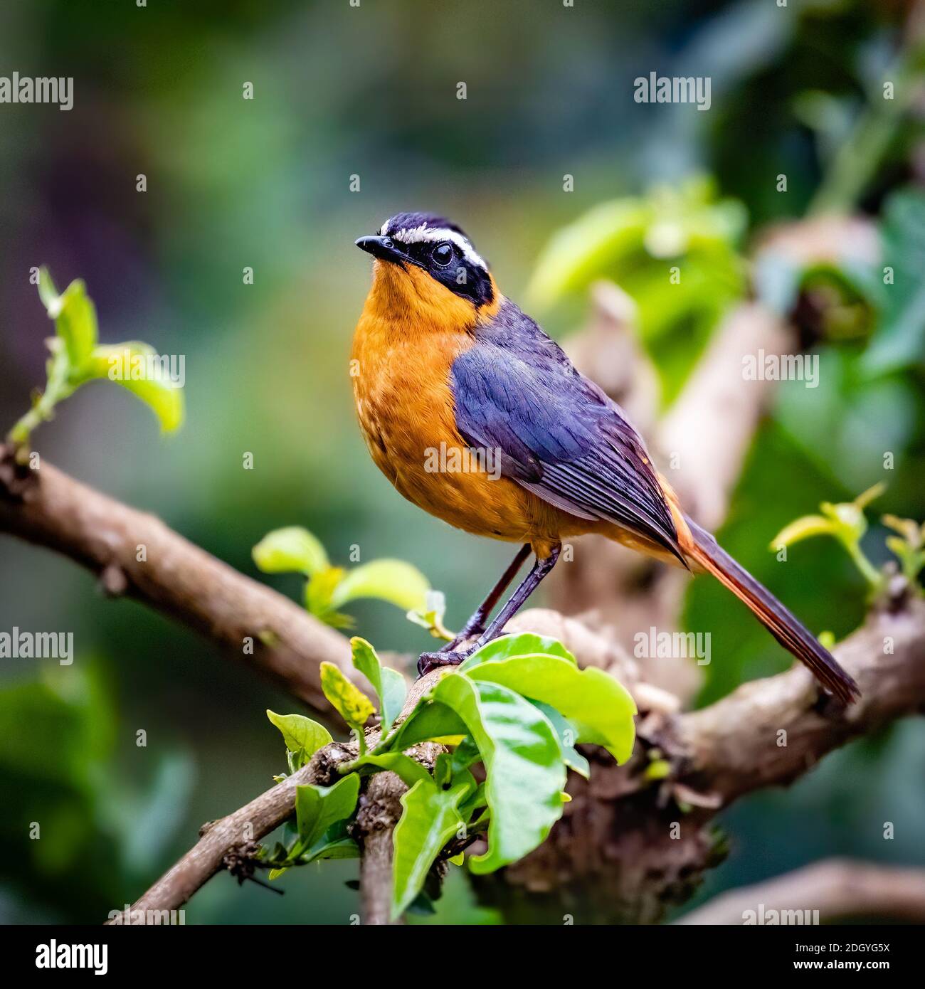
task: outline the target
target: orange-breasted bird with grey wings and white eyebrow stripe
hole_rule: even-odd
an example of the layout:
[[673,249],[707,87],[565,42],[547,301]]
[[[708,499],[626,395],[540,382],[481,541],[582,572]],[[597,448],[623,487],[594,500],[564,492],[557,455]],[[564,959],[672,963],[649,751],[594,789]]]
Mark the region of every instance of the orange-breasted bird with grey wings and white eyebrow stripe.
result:
[[[419,674],[504,634],[563,541],[594,533],[711,574],[826,691],[845,704],[860,696],[818,639],[685,513],[620,406],[502,295],[460,226],[399,213],[355,244],[373,257],[350,354],[373,461],[432,515],[520,544],[459,634],[420,655]],[[490,618],[531,552],[531,569]]]

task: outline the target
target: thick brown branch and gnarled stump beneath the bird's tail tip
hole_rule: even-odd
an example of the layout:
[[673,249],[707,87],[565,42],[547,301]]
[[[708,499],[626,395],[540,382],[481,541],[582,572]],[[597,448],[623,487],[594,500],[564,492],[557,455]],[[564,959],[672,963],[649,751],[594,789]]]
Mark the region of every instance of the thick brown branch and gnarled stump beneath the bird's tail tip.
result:
[[[483,894],[513,918],[523,891],[534,894],[525,914],[534,922],[544,914],[561,920],[570,905],[596,921],[661,919],[721,859],[712,832],[721,809],[791,782],[852,738],[925,710],[925,601],[910,597],[891,607],[873,612],[834,649],[861,686],[856,705],[846,710],[820,697],[811,675],[794,667],[700,711],[643,710],[630,763],[617,766],[589,750],[591,779],[570,779],[563,820],[509,866],[507,882],[480,880]],[[647,775],[652,759],[668,764],[664,778]]]

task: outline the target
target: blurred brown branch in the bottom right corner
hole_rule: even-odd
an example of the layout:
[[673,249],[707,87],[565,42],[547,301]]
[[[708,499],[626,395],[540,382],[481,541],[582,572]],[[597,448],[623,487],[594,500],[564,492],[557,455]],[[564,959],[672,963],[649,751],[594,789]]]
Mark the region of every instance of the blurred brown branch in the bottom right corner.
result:
[[828,858],[723,893],[678,923],[755,924],[760,916],[770,918],[771,911],[779,918],[791,911],[818,911],[822,922],[878,917],[925,924],[925,869]]

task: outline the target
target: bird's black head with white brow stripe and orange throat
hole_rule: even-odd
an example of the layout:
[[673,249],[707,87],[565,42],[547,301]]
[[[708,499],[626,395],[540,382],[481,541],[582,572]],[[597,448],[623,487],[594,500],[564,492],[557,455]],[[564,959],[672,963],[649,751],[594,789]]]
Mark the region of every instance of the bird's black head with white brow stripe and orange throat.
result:
[[380,307],[437,310],[463,323],[497,309],[488,265],[462,229],[443,217],[399,213],[356,246],[376,258],[371,295]]

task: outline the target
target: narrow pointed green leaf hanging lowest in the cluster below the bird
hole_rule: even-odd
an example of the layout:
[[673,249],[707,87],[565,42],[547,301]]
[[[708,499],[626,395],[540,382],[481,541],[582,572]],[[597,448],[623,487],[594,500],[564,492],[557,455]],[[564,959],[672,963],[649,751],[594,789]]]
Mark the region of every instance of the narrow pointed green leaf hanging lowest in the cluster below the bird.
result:
[[405,809],[393,835],[394,920],[415,900],[443,846],[465,827],[457,808],[468,788],[463,782],[441,790],[428,776],[402,794]]

